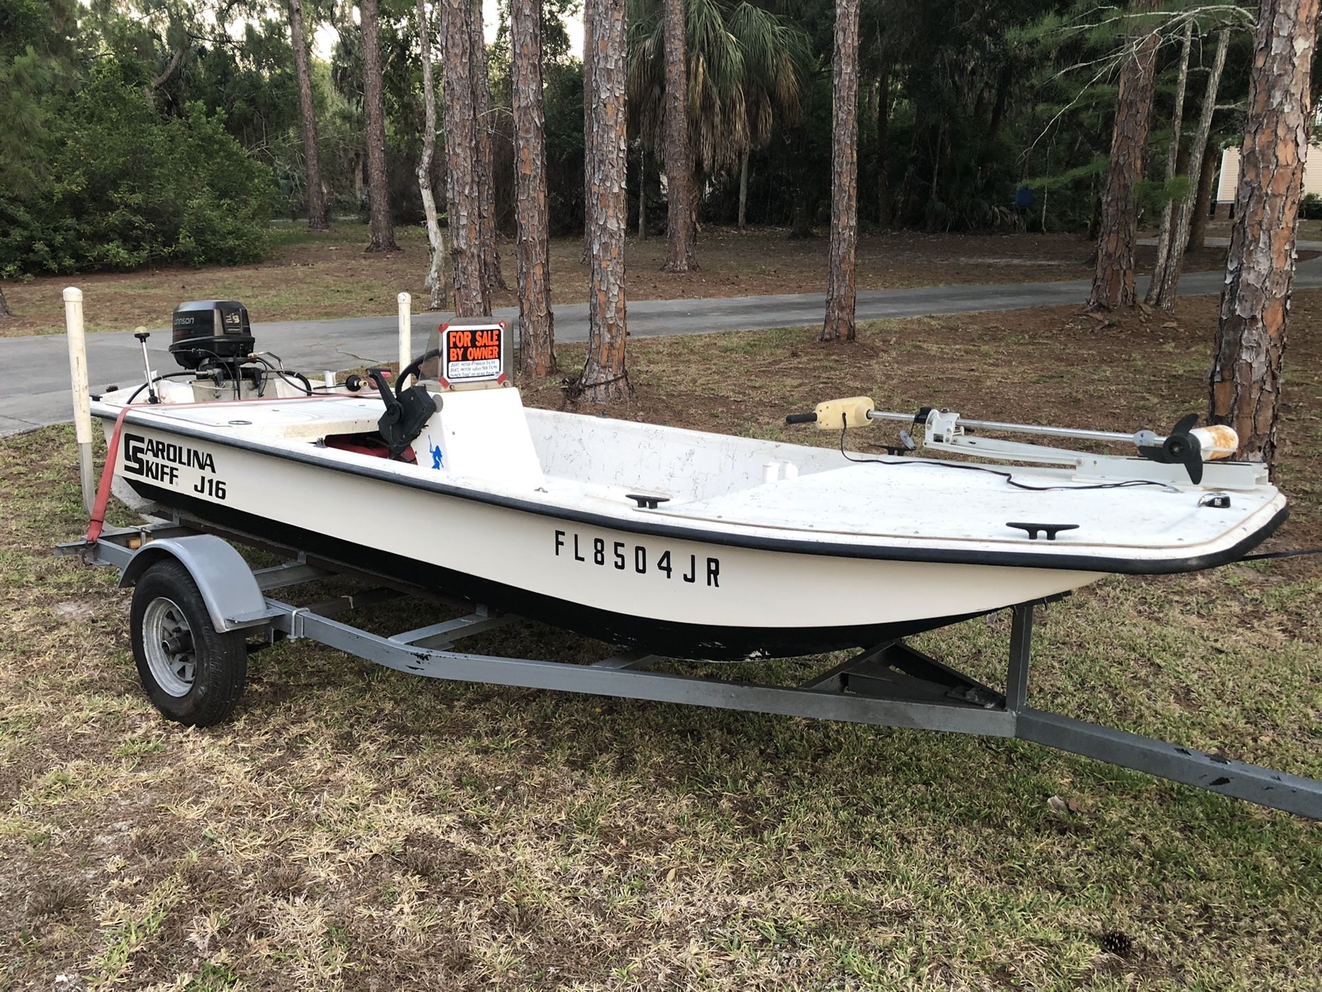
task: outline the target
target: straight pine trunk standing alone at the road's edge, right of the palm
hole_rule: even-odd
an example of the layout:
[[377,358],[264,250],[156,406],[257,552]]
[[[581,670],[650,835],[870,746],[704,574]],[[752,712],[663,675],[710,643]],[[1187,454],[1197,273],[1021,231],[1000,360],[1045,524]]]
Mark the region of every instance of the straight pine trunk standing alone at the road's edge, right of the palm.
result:
[[853,341],[854,255],[858,246],[858,7],[836,0],[832,66],[830,269],[824,341]]

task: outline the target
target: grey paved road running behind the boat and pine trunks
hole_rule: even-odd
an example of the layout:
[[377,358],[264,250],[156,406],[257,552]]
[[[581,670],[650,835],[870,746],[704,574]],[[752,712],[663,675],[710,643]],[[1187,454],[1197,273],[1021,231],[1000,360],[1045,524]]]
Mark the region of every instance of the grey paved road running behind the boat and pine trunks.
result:
[[[1210,238],[1210,245],[1216,239]],[[1224,241],[1222,241],[1224,245]],[[1301,249],[1322,251],[1322,242],[1301,242]],[[989,266],[990,269],[992,266]],[[992,272],[989,272],[990,275]],[[1195,296],[1220,292],[1223,272],[1190,272],[1181,279],[1181,294]],[[1142,284],[1146,279],[1141,280]],[[1089,280],[1007,283],[998,286],[927,286],[914,290],[863,290],[858,294],[858,319],[911,317],[936,313],[1021,310],[1083,303]],[[1322,287],[1322,258],[1301,262],[1294,284]],[[95,307],[95,300],[87,302]],[[735,296],[714,300],[641,300],[629,303],[629,335],[702,335],[718,331],[748,331],[802,327],[821,321],[825,298],[818,294],[783,296]],[[422,351],[427,333],[443,313],[418,313],[412,319],[414,351]],[[514,310],[497,316],[517,323]],[[395,357],[395,317],[345,317],[297,320],[253,325],[258,347],[279,354],[288,368],[316,373],[344,369]],[[555,308],[555,337],[587,340],[587,306]],[[173,370],[169,332],[156,331],[149,351],[152,368]],[[87,335],[87,365],[93,392],[107,385],[140,381],[141,349],[130,332]],[[0,436],[19,434],[73,417],[69,398],[69,358],[63,335],[0,339]]]

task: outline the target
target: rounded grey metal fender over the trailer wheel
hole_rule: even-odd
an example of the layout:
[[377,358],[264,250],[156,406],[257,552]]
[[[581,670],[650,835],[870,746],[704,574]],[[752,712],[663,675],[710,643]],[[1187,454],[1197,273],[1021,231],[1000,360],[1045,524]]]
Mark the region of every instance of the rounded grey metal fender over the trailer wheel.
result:
[[217,631],[266,623],[271,611],[253,570],[234,548],[214,534],[163,537],[143,545],[124,567],[119,586],[134,586],[163,558],[175,558],[193,577]]

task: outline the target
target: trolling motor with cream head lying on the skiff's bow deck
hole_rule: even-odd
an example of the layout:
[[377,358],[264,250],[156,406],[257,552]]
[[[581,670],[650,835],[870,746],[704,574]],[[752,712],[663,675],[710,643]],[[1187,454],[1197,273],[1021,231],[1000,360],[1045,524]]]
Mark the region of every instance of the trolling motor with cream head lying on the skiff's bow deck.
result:
[[[960,417],[953,410],[939,410],[931,406],[924,406],[915,414],[887,413],[878,410],[870,397],[828,399],[817,403],[817,407],[812,413],[789,414],[785,418],[787,423],[816,423],[820,430],[862,427],[873,421],[895,421],[921,426],[927,447],[960,451],[962,454],[973,454],[976,451],[981,456],[1007,462],[1047,462],[1077,467],[1088,460],[1100,463],[1105,459],[1068,448],[995,438],[974,438],[972,435],[986,430],[1009,434],[1039,434],[1048,438],[1072,438],[1077,440],[1128,442],[1136,447],[1140,458],[1158,464],[1182,466],[1188,475],[1188,481],[1194,485],[1203,481],[1203,466],[1206,462],[1229,459],[1239,448],[1239,435],[1232,427],[1224,425],[1196,427],[1198,414],[1188,414],[1181,418],[1170,434],[1165,436],[1150,430],[1124,434],[1120,431],[1044,427],[999,421],[970,421]],[[903,439],[903,447],[887,446],[890,454],[904,454],[916,447],[907,433],[902,431],[900,438]]]

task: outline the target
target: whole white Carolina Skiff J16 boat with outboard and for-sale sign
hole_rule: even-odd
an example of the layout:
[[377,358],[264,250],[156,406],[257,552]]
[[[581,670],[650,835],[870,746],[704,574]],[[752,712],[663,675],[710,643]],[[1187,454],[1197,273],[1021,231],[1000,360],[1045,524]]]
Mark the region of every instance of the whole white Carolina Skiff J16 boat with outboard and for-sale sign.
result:
[[[315,386],[251,353],[239,304],[185,304],[185,372],[171,374],[189,381],[148,373],[91,405],[114,492],[144,515],[699,659],[876,644],[1107,574],[1208,569],[1286,513],[1264,466],[1227,458],[1224,427],[1075,431],[867,398],[789,418],[842,438],[903,421],[927,450],[1014,466],[919,458],[907,434],[858,455],[526,409],[502,324],[432,337],[394,385],[370,370]],[[989,436],[1030,431],[1129,451]]]

